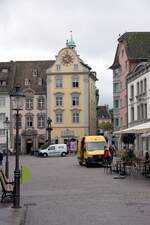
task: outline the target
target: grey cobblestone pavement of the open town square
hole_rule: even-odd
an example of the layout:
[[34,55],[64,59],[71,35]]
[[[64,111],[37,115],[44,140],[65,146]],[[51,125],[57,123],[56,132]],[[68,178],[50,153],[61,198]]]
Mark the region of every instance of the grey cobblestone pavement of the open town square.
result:
[[[13,167],[11,157],[11,167]],[[114,179],[76,157],[22,156],[32,180],[21,187],[26,225],[149,225],[150,179]]]

